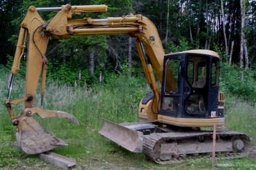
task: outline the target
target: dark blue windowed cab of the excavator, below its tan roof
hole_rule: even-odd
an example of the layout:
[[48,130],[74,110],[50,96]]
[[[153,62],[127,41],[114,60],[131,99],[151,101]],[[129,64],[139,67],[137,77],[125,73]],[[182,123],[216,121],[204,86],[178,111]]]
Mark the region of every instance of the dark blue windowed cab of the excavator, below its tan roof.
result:
[[[170,71],[172,68],[172,71]],[[164,58],[160,113],[173,118],[223,118],[218,114],[220,59],[175,53]],[[173,77],[175,86],[169,81]]]

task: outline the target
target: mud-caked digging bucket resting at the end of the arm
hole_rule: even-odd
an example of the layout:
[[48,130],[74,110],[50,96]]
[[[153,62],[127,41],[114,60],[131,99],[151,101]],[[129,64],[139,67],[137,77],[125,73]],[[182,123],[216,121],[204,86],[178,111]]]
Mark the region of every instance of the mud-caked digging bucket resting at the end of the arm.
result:
[[64,141],[47,132],[33,117],[24,117],[21,120],[16,139],[22,150],[28,154],[42,153],[67,146]]

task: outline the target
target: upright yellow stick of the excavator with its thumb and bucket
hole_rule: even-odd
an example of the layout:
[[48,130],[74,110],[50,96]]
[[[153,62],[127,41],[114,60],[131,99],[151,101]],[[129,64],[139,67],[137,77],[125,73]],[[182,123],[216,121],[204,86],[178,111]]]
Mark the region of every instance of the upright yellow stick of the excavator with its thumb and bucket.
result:
[[[47,65],[45,51],[47,49],[49,35],[42,35],[40,32],[44,30],[44,26],[44,20],[40,15],[38,15],[36,8],[31,6],[21,24],[19,40],[10,75],[8,97],[5,102],[12,123],[17,126],[17,143],[20,145],[22,150],[28,154],[42,153],[44,151],[67,145],[64,141],[61,141],[61,139],[58,139],[58,137],[55,137],[53,134],[47,132],[47,130],[41,127],[41,125],[32,117],[33,114],[37,114],[41,118],[68,118],[70,121],[78,123],[78,120],[72,116],[72,114],[61,111],[48,111],[33,105],[36,88],[41,74],[42,101],[45,93]],[[11,100],[14,75],[19,72],[20,59],[26,49],[26,42],[28,42],[28,59],[26,66],[25,95],[22,98]],[[24,102],[24,109],[19,116],[15,116],[12,105],[19,102]]]

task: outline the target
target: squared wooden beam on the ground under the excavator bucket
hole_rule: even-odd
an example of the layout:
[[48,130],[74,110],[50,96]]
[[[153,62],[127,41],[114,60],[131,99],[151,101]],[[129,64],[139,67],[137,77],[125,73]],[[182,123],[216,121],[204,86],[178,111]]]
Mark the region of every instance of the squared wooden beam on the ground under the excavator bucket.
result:
[[54,166],[58,166],[63,169],[68,169],[68,167],[76,166],[76,160],[72,158],[64,157],[62,155],[58,155],[57,153],[53,153],[51,151],[40,153],[39,157],[41,160],[44,160],[49,164],[53,164]]

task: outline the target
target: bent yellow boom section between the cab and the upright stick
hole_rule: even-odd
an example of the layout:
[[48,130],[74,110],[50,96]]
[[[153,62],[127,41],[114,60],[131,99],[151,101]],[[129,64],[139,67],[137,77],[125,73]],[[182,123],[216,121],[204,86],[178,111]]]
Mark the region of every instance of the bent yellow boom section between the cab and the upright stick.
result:
[[[94,7],[97,8],[96,6]],[[98,6],[98,8],[99,11],[104,11],[104,6]],[[132,14],[125,17],[108,17],[107,19],[71,19],[72,13],[77,13],[77,10],[72,9],[76,8],[70,6],[70,4],[63,6],[63,9],[45,27],[45,32],[55,38],[120,34],[129,34],[136,38],[136,47],[145,77],[154,92],[156,102],[154,102],[153,108],[156,109],[159,102],[159,88],[157,88],[152,66],[159,81],[162,82],[164,49],[154,24],[147,17]],[[86,12],[86,9],[81,9],[80,12]],[[146,54],[152,66],[147,62]],[[171,79],[168,79],[168,84],[170,84],[171,89],[175,89],[175,80],[172,77],[172,73],[170,75]],[[154,112],[157,112],[157,109]]]

